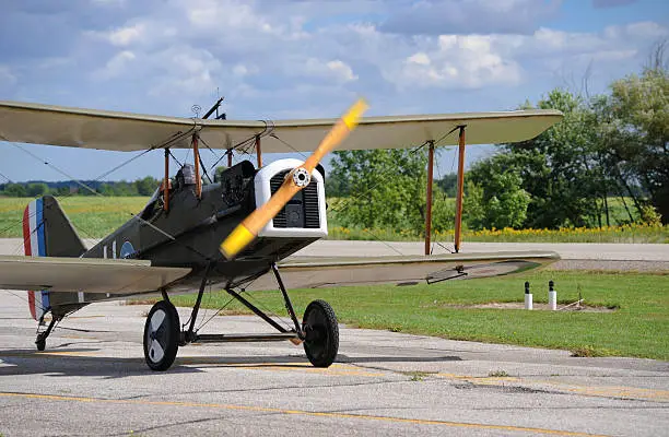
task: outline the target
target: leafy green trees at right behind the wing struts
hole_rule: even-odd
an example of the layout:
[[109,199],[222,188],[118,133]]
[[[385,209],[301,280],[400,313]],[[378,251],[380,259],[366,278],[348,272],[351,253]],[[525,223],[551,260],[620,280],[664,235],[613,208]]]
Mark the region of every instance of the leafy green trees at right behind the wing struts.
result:
[[[641,73],[584,96],[551,91],[521,109],[560,109],[564,119],[539,137],[500,144],[466,174],[465,220],[480,228],[595,227],[669,223],[669,69],[666,44]],[[343,225],[421,233],[425,215],[425,147],[334,152],[327,191]],[[433,228],[453,227],[455,175],[436,180]],[[620,222],[620,220],[618,221]]]

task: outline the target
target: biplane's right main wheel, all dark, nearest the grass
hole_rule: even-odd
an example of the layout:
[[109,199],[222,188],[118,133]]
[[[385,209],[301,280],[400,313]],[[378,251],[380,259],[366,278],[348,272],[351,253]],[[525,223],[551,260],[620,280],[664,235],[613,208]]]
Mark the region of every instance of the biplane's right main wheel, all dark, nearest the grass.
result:
[[302,329],[304,351],[315,367],[329,367],[339,351],[339,324],[332,307],[325,300],[314,300],[304,311]]

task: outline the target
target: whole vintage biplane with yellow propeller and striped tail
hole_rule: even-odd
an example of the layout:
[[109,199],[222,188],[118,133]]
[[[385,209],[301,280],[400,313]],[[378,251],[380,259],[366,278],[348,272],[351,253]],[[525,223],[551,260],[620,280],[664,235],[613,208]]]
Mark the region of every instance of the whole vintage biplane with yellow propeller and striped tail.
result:
[[[315,300],[300,322],[286,283],[292,287],[433,283],[508,274],[558,259],[553,252],[458,253],[457,249],[465,133],[470,144],[528,140],[559,121],[561,113],[361,118],[364,109],[365,104],[359,102],[341,119],[270,122],[210,120],[212,110],[202,118],[175,118],[0,102],[0,141],[110,151],[162,149],[165,155],[164,180],[146,206],[90,249],[55,198],[32,201],[23,218],[25,257],[0,257],[0,288],[32,291],[28,299],[32,315],[39,321],[39,351],[54,326],[83,306],[153,293],[163,299],[146,317],[143,349],[146,364],[154,370],[167,369],[178,347],[188,343],[275,340],[303,343],[309,362],[327,367],[339,347],[334,312],[327,303]],[[349,135],[354,128],[355,133]],[[319,165],[327,153],[334,147],[415,144],[427,144],[431,160],[435,146],[460,147],[455,253],[286,260],[328,234],[325,172]],[[243,161],[228,165],[220,180],[203,185],[202,146],[224,149],[228,156],[234,151],[254,150],[258,168]],[[172,178],[169,154],[174,149],[192,150],[195,160]],[[261,152],[313,154],[305,162],[280,160],[262,166]],[[430,184],[431,176],[432,172]],[[431,192],[429,189],[427,194]],[[208,285],[225,290],[278,332],[200,333],[196,318]],[[192,290],[198,290],[197,300],[189,322],[181,326],[169,295]],[[253,305],[244,293],[253,290],[279,290],[292,328],[284,328]]]

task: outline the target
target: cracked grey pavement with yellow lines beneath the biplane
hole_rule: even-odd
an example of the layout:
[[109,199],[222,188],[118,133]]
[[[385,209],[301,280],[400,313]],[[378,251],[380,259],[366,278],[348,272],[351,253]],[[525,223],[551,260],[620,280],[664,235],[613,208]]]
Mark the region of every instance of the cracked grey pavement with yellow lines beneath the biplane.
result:
[[[301,255],[315,249],[360,255],[360,247],[324,243]],[[373,252],[373,245],[365,245]],[[589,256],[592,262],[669,261],[665,245],[643,245],[648,249],[643,255],[624,246],[582,248],[580,260],[568,259],[573,248],[558,251],[576,263]],[[622,259],[597,255],[605,252]],[[668,435],[667,362],[580,358],[566,351],[341,326],[339,355],[328,369],[312,367],[302,346],[282,342],[189,345],[168,371],[153,373],[141,345],[149,306],[86,307],[37,352],[36,323],[25,300],[24,292],[0,292],[0,434],[5,437]],[[185,321],[188,310],[179,312]],[[271,328],[256,317],[214,317],[202,332]]]

